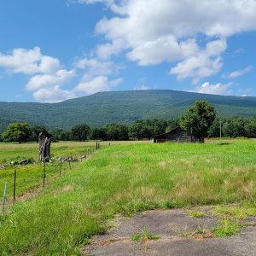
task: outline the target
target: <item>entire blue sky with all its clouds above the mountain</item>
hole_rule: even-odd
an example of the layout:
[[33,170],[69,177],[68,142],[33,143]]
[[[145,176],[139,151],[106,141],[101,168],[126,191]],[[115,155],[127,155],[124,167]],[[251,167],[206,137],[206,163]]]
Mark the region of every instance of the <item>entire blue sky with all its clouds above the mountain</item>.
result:
[[145,89],[256,96],[253,0],[0,4],[2,102]]

